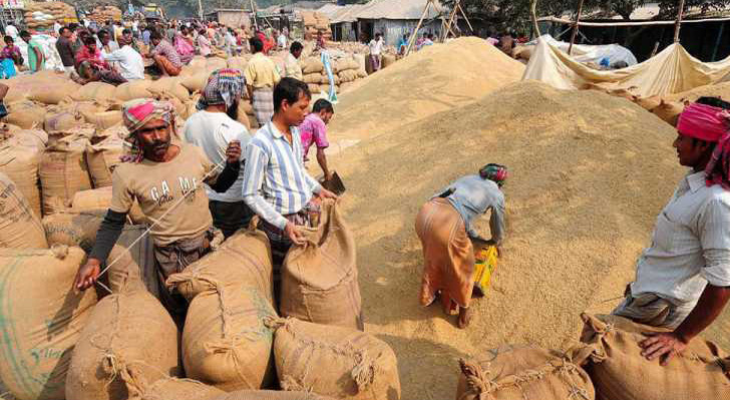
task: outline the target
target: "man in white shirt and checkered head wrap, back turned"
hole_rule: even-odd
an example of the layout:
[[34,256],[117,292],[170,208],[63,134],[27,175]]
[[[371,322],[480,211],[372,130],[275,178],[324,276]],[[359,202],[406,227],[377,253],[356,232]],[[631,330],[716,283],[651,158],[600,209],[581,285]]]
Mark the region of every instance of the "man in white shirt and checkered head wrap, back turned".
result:
[[[251,136],[245,126],[237,122],[238,105],[245,88],[243,74],[237,69],[219,69],[208,78],[203,89],[197,113],[183,128],[185,141],[203,149],[213,163],[226,159],[226,149],[232,141],[238,141],[245,149]],[[243,162],[243,158],[241,158]],[[251,222],[253,212],[243,201],[243,168],[236,183],[225,193],[217,193],[206,186],[210,198],[213,225],[223,231],[225,237],[245,228]]]

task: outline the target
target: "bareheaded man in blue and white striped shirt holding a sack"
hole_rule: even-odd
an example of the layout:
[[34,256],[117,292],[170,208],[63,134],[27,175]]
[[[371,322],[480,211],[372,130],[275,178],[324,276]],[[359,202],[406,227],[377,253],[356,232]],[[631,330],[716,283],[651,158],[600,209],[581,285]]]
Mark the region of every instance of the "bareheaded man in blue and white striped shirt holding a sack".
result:
[[298,227],[317,223],[318,206],[313,198],[337,198],[304,169],[297,126],[304,121],[311,97],[306,83],[282,79],[274,88],[274,117],[246,148],[243,199],[262,219],[271,241],[277,295],[286,253],[292,244],[305,243]]

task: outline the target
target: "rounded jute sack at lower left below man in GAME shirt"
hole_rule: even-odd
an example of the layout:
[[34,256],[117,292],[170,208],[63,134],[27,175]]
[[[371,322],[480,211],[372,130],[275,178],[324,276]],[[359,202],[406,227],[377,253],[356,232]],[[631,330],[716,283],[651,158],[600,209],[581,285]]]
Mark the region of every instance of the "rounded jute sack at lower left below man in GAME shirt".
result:
[[66,398],[123,400],[134,395],[139,386],[134,382],[147,376],[180,375],[177,340],[175,322],[162,304],[139,279],[130,279],[99,301],[81,331],[66,377]]

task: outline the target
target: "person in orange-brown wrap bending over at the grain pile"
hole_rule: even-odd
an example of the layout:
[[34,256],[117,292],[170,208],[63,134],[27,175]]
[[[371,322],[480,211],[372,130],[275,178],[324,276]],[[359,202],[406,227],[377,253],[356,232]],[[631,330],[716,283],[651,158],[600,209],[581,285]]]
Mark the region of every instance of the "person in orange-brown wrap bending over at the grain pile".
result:
[[[478,175],[468,175],[444,188],[426,203],[416,218],[416,233],[423,246],[424,268],[421,305],[429,306],[440,294],[444,311],[459,309],[457,324],[466,328],[471,319],[469,303],[474,290],[474,248],[497,246],[504,239],[505,199],[501,187],[507,167],[487,164]],[[474,228],[474,220],[491,210],[487,240]]]

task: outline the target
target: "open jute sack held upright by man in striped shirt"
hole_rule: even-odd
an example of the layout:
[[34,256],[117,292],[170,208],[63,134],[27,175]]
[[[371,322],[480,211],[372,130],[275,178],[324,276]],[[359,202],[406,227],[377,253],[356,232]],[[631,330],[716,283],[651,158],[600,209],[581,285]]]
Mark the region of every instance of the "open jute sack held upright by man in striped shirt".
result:
[[292,247],[282,267],[281,315],[362,330],[355,240],[337,204],[324,202],[317,229],[303,232],[306,244]]

